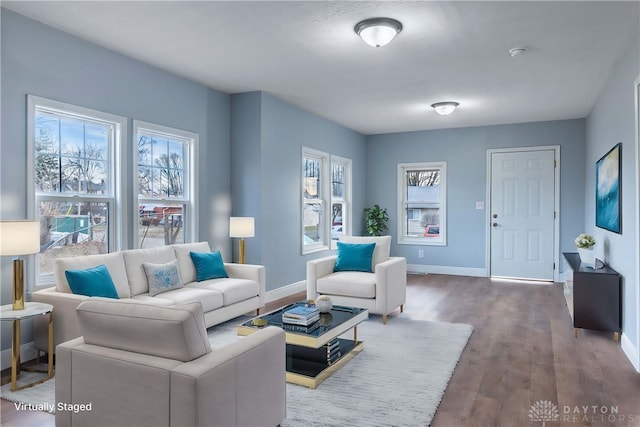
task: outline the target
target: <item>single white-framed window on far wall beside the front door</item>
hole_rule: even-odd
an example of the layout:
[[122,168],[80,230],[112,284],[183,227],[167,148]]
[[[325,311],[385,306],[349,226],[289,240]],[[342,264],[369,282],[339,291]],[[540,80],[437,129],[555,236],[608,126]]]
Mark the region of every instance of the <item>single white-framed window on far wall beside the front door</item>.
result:
[[398,164],[399,243],[446,245],[446,162]]

